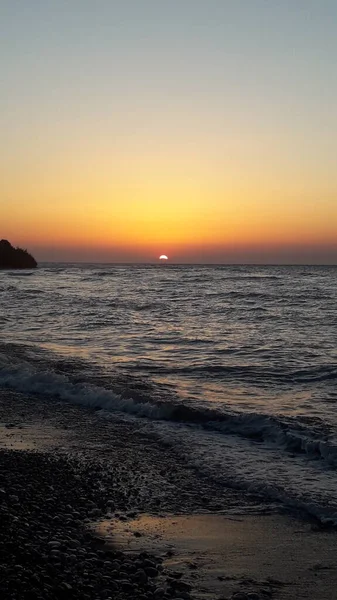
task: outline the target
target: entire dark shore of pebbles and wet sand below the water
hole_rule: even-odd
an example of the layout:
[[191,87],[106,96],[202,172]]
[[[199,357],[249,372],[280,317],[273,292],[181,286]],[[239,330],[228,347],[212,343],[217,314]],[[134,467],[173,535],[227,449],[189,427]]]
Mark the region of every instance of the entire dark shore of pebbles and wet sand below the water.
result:
[[[261,514],[254,496],[207,481],[129,420],[0,390],[0,453],[12,528],[3,532],[1,552],[4,544],[11,548],[16,581],[35,589],[36,598],[335,598],[335,532]],[[35,571],[34,561],[18,571],[18,561],[30,556],[13,545],[20,535],[31,558],[45,557]],[[140,575],[143,567],[152,576],[146,569]],[[48,587],[49,571],[56,587]],[[14,595],[8,588],[4,597],[29,597],[22,589]]]

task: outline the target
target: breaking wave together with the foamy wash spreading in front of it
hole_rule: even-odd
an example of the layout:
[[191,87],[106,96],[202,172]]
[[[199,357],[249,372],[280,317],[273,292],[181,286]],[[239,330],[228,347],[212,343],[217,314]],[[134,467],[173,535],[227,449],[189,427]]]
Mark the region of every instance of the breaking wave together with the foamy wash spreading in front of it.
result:
[[[297,474],[301,479],[303,472],[305,484],[308,473],[310,478],[317,473],[321,477],[329,473],[331,477],[332,469],[337,466],[337,441],[320,419],[191,406],[174,398],[162,401],[156,398],[151,386],[142,389],[141,382],[126,396],[126,386],[123,388],[120,382],[104,374],[102,377],[99,370],[91,369],[90,379],[84,375],[88,370],[86,362],[73,365],[62,361],[59,368],[58,360],[50,360],[49,353],[42,349],[37,352],[33,346],[14,344],[6,344],[5,352],[3,349],[0,346],[1,387],[28,393],[32,401],[33,395],[38,394],[46,399],[100,409],[102,417],[113,418],[113,413],[119,413],[142,418],[139,426],[144,432],[179,448],[192,466],[223,485],[248,490],[263,501],[276,500],[285,507],[314,515],[319,521],[337,524],[335,502],[328,496],[324,501],[320,479],[313,495],[310,486],[302,490],[302,480],[298,482],[299,493],[296,487]],[[286,478],[279,479],[278,474],[270,477],[275,452],[284,465],[291,460],[289,455],[293,458],[290,470],[285,467]],[[249,464],[247,472],[242,469],[244,457]]]

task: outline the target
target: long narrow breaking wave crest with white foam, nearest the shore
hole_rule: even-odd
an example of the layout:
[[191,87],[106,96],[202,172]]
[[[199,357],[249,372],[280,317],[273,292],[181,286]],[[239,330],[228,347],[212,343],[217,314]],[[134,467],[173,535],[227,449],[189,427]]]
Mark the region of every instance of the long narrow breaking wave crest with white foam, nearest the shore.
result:
[[13,362],[13,357],[0,354],[0,386],[20,392],[43,394],[66,402],[124,412],[148,419],[200,426],[221,434],[273,444],[294,454],[319,458],[337,466],[337,445],[320,421],[310,426],[298,419],[261,413],[224,412],[218,409],[191,406],[176,401],[155,402],[151,398],[125,397],[90,380],[71,379],[64,373],[39,369],[27,361]]

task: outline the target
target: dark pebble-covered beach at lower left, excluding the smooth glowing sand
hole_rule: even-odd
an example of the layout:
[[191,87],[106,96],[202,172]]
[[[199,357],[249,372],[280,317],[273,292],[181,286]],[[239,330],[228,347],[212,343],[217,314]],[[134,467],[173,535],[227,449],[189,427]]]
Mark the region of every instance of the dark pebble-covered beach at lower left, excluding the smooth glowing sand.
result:
[[[140,440],[129,425],[105,428],[102,422],[100,453],[90,438],[95,412],[7,391],[1,392],[0,406],[3,598],[193,597],[192,584],[163,568],[163,557],[148,552],[130,557],[90,528],[103,517],[128,521],[140,511],[203,507],[209,490],[200,498],[189,469],[179,475],[176,464],[171,485],[163,486],[164,449],[154,443],[145,449],[142,442],[140,455]],[[104,433],[116,435],[118,429],[105,454]],[[172,460],[169,454],[166,449]],[[222,500],[219,490],[218,506]]]

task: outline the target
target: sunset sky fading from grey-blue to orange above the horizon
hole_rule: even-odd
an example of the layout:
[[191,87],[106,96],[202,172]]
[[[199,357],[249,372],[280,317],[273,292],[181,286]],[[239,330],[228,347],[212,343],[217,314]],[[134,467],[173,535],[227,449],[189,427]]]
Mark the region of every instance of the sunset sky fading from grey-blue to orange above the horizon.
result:
[[0,238],[337,264],[336,0],[1,0]]

